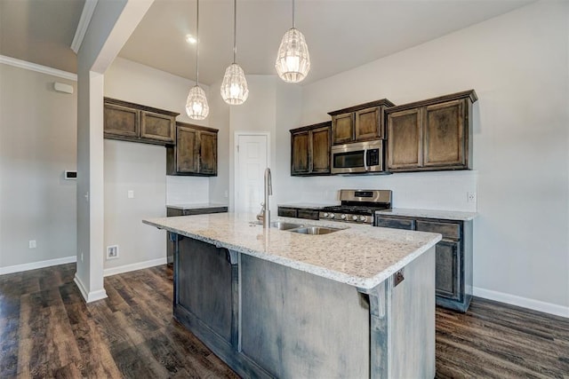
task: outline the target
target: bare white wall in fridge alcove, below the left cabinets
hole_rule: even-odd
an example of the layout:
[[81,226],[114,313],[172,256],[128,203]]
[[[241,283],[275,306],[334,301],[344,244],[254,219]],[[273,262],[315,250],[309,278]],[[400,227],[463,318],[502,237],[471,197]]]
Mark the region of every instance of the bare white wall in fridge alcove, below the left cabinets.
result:
[[165,166],[164,146],[105,139],[104,243],[119,250],[105,258],[105,274],[165,263],[166,233],[141,221],[166,216]]

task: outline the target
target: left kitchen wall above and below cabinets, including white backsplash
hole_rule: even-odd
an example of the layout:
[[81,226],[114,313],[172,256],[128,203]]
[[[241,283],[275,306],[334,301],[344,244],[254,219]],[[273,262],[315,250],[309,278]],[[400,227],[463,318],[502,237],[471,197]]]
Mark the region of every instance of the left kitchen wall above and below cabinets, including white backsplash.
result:
[[[186,114],[186,99],[193,85],[180,76],[116,58],[105,73],[104,93],[109,98],[180,113],[177,121],[207,125],[208,119],[196,122]],[[105,260],[105,274],[157,265],[165,259],[164,231],[143,225],[141,220],[165,217],[166,201],[209,201],[209,178],[166,177],[165,156],[164,146],[105,141],[105,246],[119,244],[120,250],[118,259]],[[127,199],[128,190],[134,190],[134,199]],[[144,243],[135,238],[137,235],[144,235]]]

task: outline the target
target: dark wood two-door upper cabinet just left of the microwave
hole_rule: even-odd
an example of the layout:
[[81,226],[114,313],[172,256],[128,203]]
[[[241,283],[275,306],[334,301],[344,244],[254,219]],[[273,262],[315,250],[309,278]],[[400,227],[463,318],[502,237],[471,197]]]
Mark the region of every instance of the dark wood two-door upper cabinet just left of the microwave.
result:
[[291,130],[291,175],[330,175],[332,122]]

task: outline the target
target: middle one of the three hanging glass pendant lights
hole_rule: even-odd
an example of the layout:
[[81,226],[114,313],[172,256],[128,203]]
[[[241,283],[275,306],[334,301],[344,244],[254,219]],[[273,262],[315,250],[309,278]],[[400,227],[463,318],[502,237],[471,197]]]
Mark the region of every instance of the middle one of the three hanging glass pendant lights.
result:
[[243,104],[249,97],[243,68],[236,64],[237,54],[237,0],[233,0],[233,63],[225,70],[221,83],[221,98],[232,106]]

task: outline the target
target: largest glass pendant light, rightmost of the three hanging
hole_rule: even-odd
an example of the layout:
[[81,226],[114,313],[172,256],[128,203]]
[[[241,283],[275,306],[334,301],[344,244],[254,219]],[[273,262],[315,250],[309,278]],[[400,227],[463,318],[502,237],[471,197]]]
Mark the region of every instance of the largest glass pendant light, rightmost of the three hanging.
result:
[[309,46],[294,24],[294,0],[293,28],[284,33],[276,54],[275,68],[276,73],[287,83],[301,82],[310,71]]

